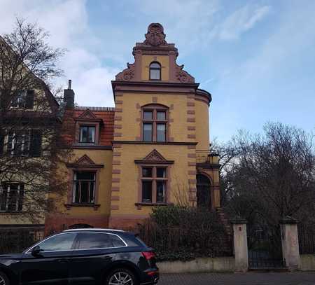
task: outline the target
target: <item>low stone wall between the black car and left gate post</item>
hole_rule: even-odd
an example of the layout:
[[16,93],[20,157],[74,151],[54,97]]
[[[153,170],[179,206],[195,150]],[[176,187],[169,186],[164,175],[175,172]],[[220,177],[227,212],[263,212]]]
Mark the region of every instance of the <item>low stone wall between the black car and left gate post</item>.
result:
[[190,261],[162,261],[160,273],[234,272],[234,257],[196,258]]

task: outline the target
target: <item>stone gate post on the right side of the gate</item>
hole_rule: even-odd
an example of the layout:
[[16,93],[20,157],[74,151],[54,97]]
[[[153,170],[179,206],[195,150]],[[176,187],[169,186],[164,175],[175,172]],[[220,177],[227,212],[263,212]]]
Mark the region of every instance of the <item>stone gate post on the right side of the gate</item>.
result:
[[286,216],[280,221],[283,261],[288,270],[300,269],[299,237],[297,220]]

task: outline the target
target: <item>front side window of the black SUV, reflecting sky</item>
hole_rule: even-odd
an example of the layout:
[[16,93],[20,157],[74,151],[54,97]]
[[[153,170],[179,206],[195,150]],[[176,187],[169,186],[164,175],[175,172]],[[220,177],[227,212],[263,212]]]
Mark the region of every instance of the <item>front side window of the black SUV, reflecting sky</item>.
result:
[[43,251],[69,251],[72,248],[72,244],[75,238],[76,233],[69,232],[66,234],[49,237],[38,245],[39,248]]

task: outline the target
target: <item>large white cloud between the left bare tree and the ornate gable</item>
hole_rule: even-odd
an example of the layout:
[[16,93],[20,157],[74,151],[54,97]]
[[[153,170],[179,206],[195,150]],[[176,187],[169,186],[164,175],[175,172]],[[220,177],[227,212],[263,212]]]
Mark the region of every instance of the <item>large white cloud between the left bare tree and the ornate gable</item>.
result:
[[104,66],[93,52],[100,43],[88,25],[85,0],[22,0],[18,5],[2,0],[0,34],[12,30],[16,16],[37,22],[50,33],[51,46],[68,50],[59,62],[64,77],[56,85],[65,88],[67,79],[72,79],[79,105],[113,106],[111,80],[118,71]]

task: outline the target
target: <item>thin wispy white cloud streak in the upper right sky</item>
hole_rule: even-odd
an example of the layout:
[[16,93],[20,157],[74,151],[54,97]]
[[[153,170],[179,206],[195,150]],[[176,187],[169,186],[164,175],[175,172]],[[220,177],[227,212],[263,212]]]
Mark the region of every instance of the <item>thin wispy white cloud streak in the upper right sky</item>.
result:
[[270,6],[253,7],[246,5],[233,12],[218,26],[218,38],[225,41],[239,39],[239,36],[265,18],[271,11]]

